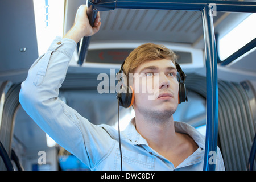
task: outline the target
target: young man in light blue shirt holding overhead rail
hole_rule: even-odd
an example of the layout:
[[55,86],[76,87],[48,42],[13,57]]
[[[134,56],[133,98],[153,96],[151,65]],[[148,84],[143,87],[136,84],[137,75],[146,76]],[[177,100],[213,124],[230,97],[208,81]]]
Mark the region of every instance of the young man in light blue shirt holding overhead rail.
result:
[[[28,71],[19,97],[23,109],[91,170],[202,170],[205,138],[172,117],[178,105],[179,83],[175,54],[163,46],[144,44],[123,65],[126,74],[138,73],[146,79],[139,86],[133,84],[135,118],[121,133],[122,155],[115,129],[93,125],[59,100],[59,88],[76,43],[100,29],[99,14],[94,25],[89,25],[86,6],[80,6],[71,30],[64,38],[57,37]],[[157,83],[153,81],[156,75]],[[148,83],[156,91],[154,99],[138,90]],[[216,170],[225,169],[219,149],[216,163]]]

